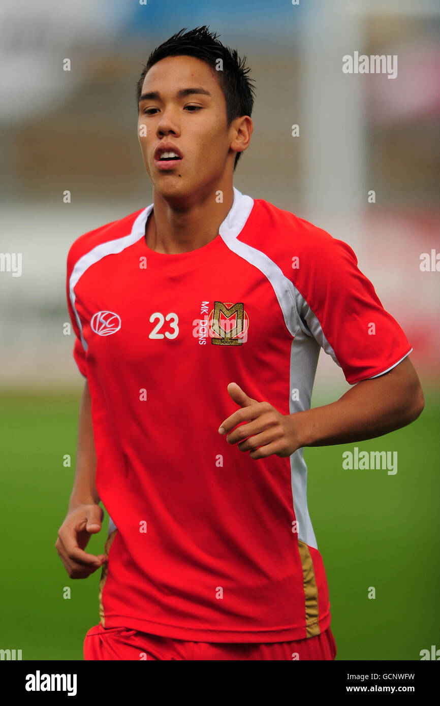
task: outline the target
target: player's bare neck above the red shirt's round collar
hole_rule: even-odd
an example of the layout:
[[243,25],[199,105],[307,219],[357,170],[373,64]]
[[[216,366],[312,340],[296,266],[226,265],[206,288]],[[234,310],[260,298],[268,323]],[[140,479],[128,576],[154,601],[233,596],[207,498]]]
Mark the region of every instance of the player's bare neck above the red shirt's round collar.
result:
[[189,208],[173,208],[153,189],[153,210],[145,224],[145,243],[157,253],[186,253],[207,245],[218,236],[218,229],[232,208],[234,192],[222,192],[217,203],[214,191]]

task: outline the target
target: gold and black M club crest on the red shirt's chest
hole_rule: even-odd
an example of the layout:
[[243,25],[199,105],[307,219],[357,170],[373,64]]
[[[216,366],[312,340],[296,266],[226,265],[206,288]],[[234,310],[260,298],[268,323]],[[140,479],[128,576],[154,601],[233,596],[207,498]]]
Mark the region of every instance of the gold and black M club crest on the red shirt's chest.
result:
[[242,301],[214,302],[208,317],[211,343],[218,346],[241,346],[247,339],[249,318]]

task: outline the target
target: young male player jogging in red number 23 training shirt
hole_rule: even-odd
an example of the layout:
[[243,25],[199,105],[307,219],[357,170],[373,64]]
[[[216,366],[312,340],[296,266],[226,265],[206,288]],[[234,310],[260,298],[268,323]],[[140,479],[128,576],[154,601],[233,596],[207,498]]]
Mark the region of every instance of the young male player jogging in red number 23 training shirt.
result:
[[[207,28],[155,49],[137,96],[153,204],[69,251],[86,381],[56,546],[71,578],[102,566],[85,659],[334,659],[304,446],[380,436],[424,406],[350,246],[232,186],[248,71]],[[354,387],[310,409],[320,347]]]

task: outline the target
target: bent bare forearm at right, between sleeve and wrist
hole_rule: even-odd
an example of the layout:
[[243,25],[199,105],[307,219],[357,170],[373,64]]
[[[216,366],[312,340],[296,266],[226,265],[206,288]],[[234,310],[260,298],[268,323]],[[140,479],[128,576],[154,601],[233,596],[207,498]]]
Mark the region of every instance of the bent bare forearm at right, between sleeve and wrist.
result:
[[407,357],[389,373],[357,383],[337,402],[290,416],[301,448],[382,436],[410,424],[423,407],[419,378]]

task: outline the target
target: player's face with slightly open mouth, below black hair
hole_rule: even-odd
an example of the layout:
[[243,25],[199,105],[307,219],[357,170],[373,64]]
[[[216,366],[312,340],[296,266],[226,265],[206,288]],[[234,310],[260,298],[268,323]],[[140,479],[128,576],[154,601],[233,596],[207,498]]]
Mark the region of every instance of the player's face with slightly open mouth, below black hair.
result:
[[[195,92],[184,94],[186,89]],[[167,56],[150,68],[141,90],[138,136],[145,169],[163,198],[191,203],[220,184],[226,167],[232,178],[235,134],[234,121],[227,128],[218,77],[205,61]],[[167,143],[182,159],[160,160],[157,148]]]

